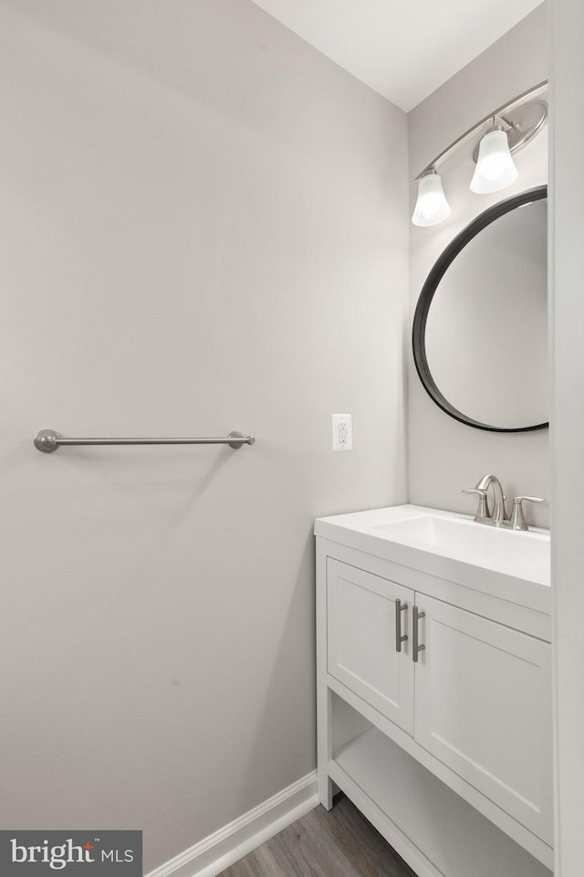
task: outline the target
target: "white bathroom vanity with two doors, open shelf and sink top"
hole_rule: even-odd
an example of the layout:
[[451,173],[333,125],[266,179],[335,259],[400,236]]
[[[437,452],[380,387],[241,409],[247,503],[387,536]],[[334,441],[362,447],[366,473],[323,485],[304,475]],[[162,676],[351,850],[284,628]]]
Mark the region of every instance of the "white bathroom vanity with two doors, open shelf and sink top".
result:
[[419,877],[549,877],[549,534],[412,505],[315,534],[321,803]]

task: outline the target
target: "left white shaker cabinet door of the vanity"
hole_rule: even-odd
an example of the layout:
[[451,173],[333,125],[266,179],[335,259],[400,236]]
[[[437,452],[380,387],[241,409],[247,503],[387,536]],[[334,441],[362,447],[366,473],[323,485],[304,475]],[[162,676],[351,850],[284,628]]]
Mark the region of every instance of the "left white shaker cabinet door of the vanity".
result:
[[413,591],[328,558],[328,673],[412,734],[411,639],[397,650],[396,599],[410,637]]

